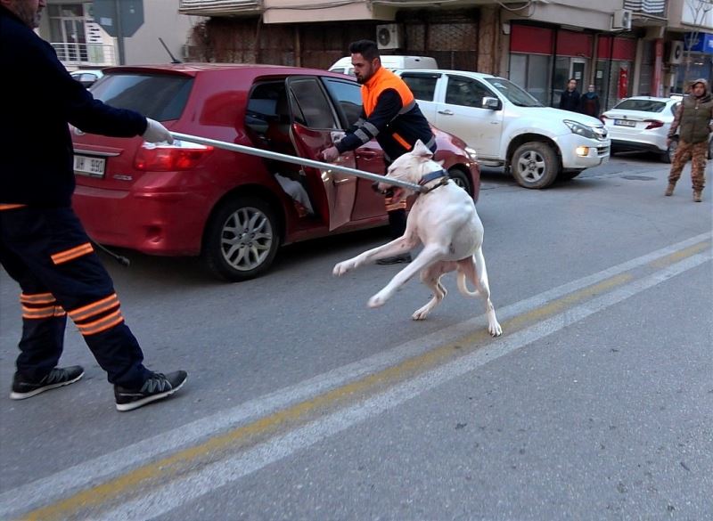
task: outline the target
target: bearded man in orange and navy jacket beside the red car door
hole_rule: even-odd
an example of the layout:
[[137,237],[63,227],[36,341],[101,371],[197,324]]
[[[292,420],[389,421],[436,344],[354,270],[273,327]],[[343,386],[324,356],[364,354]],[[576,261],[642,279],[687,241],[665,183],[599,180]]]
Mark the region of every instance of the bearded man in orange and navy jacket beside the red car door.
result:
[[[332,162],[341,153],[353,151],[373,138],[381,145],[387,165],[411,151],[418,140],[435,152],[436,137],[414,94],[403,79],[381,67],[376,43],[359,40],[349,45],[349,53],[356,80],[362,85],[362,115],[340,142],[322,152],[323,159]],[[397,239],[406,232],[406,200],[392,201],[392,195],[392,191],[387,192],[385,203],[391,236]],[[411,255],[405,253],[381,259],[377,264],[408,262]]]

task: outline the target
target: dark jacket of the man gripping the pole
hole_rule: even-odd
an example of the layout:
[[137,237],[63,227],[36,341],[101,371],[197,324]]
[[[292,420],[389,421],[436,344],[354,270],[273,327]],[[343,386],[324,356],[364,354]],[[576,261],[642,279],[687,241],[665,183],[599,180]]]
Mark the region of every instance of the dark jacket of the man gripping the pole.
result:
[[0,203],[68,207],[74,191],[67,123],[92,134],[143,134],[146,118],[94,100],[52,45],[0,6]]

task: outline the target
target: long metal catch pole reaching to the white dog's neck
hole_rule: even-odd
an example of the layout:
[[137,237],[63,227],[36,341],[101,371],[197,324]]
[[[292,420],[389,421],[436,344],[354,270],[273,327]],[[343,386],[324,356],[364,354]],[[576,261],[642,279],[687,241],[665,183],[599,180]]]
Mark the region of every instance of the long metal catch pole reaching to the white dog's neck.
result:
[[332,170],[333,172],[340,172],[342,174],[363,177],[365,179],[369,179],[371,181],[376,181],[379,183],[400,186],[402,188],[407,188],[408,190],[413,190],[419,193],[423,191],[423,187],[420,184],[408,183],[407,181],[401,181],[400,179],[390,179],[385,177],[384,175],[372,174],[371,172],[364,172],[362,170],[357,170],[356,168],[341,167],[340,165],[334,163],[323,163],[321,161],[315,161],[314,159],[288,156],[287,154],[281,154],[279,152],[256,149],[254,147],[239,145],[233,142],[217,141],[216,139],[209,139],[207,137],[200,137],[197,135],[182,134],[180,132],[171,132],[170,134],[174,137],[174,139],[210,145],[219,149],[225,149],[226,151],[250,154],[251,156],[258,156],[260,158],[266,159],[276,159],[278,161],[284,161],[285,163],[294,163],[295,165],[301,165],[304,167],[315,167],[320,168],[322,170]]

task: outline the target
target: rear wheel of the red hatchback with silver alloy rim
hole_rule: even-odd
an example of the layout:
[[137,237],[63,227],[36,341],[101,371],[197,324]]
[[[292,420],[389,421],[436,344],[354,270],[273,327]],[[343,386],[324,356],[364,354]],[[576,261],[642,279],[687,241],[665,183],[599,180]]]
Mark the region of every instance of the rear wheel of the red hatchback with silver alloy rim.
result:
[[240,196],[223,202],[203,241],[209,272],[225,281],[247,281],[265,273],[280,247],[275,210],[264,199]]

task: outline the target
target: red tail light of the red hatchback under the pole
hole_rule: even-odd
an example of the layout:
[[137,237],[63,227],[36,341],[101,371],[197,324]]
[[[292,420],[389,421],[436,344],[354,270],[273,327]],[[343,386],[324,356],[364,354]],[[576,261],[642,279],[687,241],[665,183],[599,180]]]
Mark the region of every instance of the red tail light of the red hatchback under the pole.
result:
[[190,170],[213,152],[213,147],[192,142],[173,144],[144,142],[136,152],[134,167],[151,172]]

